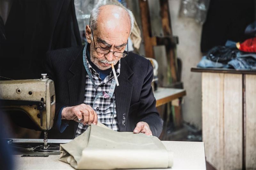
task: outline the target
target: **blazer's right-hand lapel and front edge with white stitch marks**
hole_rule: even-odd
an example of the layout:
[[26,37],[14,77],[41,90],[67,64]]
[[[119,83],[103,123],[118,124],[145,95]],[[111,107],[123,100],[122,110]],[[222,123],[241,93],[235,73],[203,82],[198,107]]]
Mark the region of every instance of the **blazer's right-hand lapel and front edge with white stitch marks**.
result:
[[125,131],[129,106],[132,97],[132,82],[129,80],[133,74],[132,69],[124,59],[120,60],[120,76],[118,76],[119,86],[115,89],[116,114],[118,127],[121,132]]

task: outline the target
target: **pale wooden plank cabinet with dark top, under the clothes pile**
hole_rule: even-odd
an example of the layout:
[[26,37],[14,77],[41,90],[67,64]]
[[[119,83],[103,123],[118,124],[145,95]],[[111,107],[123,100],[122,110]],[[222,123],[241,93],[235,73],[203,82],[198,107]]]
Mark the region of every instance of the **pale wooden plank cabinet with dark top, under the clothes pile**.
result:
[[256,169],[256,72],[202,72],[202,135],[216,169]]

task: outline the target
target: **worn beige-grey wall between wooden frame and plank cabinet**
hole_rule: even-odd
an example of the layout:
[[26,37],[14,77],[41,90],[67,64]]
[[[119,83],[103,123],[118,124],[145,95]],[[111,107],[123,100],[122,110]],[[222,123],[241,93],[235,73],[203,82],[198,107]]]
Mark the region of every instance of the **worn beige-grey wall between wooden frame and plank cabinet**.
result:
[[190,69],[196,67],[202,56],[200,52],[202,26],[194,19],[179,17],[180,0],[169,0],[169,9],[173,35],[179,36],[180,40],[177,54],[182,60],[181,81],[187,91],[182,105],[183,120],[201,129],[201,73],[191,72]]

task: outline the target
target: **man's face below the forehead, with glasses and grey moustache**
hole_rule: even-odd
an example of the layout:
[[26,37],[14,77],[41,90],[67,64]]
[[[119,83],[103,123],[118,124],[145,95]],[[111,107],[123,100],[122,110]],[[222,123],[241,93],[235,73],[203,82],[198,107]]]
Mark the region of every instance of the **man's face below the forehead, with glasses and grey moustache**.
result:
[[[106,70],[111,67],[111,64],[116,65],[116,63],[120,60],[120,58],[116,57],[113,52],[124,52],[127,39],[118,35],[115,35],[114,37],[100,35],[99,29],[97,31],[93,31],[93,40],[90,45],[90,56],[91,61],[95,66],[101,70]],[[95,48],[108,49],[113,52],[102,54],[97,52]]]

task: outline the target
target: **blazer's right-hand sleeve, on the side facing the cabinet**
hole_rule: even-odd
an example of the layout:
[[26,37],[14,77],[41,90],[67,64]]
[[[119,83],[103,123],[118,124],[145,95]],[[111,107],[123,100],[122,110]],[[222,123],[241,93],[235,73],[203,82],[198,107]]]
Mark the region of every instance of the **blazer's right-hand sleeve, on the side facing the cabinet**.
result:
[[163,120],[156,110],[156,99],[151,87],[153,76],[153,66],[148,60],[148,70],[144,76],[144,82],[140,93],[139,121],[148,123],[152,134],[159,137],[163,130]]

